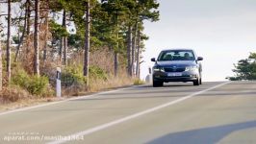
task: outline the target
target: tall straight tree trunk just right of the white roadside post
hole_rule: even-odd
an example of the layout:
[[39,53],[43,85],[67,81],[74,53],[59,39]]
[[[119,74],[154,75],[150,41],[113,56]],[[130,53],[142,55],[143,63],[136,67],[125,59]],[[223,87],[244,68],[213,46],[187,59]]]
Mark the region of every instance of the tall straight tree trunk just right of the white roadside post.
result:
[[85,59],[84,76],[87,77],[89,85],[89,60],[90,60],[90,0],[86,3],[86,34],[85,34]]

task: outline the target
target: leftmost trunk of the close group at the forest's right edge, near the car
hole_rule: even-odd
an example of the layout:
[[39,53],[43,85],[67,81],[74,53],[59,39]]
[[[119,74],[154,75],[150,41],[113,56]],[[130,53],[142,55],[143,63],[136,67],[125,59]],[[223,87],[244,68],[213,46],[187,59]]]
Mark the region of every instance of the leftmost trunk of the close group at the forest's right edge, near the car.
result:
[[131,64],[131,50],[132,50],[132,27],[128,26],[128,39],[127,39],[127,71],[128,75],[132,77],[132,64]]

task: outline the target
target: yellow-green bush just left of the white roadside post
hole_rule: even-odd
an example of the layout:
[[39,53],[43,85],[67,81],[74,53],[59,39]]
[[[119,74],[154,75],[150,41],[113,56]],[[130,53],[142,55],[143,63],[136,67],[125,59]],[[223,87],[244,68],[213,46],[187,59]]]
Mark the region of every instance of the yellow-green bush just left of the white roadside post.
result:
[[33,95],[44,96],[47,93],[49,81],[47,77],[30,76],[24,70],[18,70],[12,78],[12,84],[18,85]]

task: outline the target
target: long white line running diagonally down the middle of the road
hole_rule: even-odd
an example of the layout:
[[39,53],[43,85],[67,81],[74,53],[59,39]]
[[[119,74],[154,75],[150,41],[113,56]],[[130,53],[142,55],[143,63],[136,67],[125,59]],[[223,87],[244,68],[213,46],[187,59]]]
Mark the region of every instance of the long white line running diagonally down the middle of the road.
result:
[[[188,96],[185,96],[183,98],[180,98],[180,99],[177,99],[177,100],[174,100],[174,101],[171,101],[171,102],[168,102],[166,104],[163,104],[163,105],[160,105],[160,106],[157,106],[157,107],[154,107],[154,108],[149,108],[149,109],[146,109],[144,111],[141,111],[141,112],[138,112],[138,113],[135,113],[135,114],[132,114],[132,115],[129,115],[129,116],[126,116],[126,117],[123,117],[123,118],[120,118],[120,119],[117,119],[113,122],[110,122],[110,123],[106,123],[106,124],[103,124],[103,125],[100,125],[100,126],[97,126],[97,127],[94,127],[94,128],[91,128],[89,130],[86,130],[86,131],[83,131],[83,132],[77,132],[77,133],[74,133],[74,134],[71,134],[71,135],[68,135],[67,137],[80,137],[80,136],[85,136],[85,135],[88,135],[92,132],[98,132],[98,131],[101,131],[101,130],[104,130],[104,129],[107,129],[109,127],[112,127],[114,125],[117,125],[119,123],[122,123],[122,122],[125,122],[125,121],[128,121],[128,120],[131,120],[131,119],[134,119],[134,118],[137,118],[141,115],[145,115],[147,113],[150,113],[150,112],[153,112],[153,111],[156,111],[158,109],[161,109],[161,108],[166,108],[168,106],[171,106],[171,105],[174,105],[174,104],[177,104],[177,103],[180,103],[184,100],[187,100],[189,98],[192,98],[193,96],[196,96],[196,95],[199,95],[201,93],[204,93],[206,91],[209,91],[209,90],[212,90],[212,89],[215,89],[219,86],[222,86],[224,84],[229,84],[231,82],[226,82],[226,83],[223,83],[223,84],[218,84],[218,85],[215,85],[213,87],[210,87],[208,89],[204,89],[204,90],[201,90],[201,91],[198,91],[198,92],[195,92],[195,93],[192,93]],[[52,142],[49,142],[47,144],[61,144],[61,143],[64,143],[64,142],[68,142],[69,140],[67,139],[61,139],[61,140],[57,140],[57,141],[52,141]]]

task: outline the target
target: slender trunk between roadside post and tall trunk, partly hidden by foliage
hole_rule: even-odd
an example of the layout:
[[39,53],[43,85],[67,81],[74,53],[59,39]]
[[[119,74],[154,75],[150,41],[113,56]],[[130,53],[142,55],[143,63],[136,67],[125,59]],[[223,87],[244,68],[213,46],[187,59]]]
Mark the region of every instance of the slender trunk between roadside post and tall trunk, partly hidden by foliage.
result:
[[[66,12],[64,10],[64,15],[63,15],[63,27],[66,29]],[[66,59],[66,53],[67,53],[67,37],[63,36],[62,39],[62,46],[63,46],[63,51],[64,51],[64,65],[67,66],[67,59]]]

